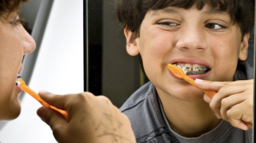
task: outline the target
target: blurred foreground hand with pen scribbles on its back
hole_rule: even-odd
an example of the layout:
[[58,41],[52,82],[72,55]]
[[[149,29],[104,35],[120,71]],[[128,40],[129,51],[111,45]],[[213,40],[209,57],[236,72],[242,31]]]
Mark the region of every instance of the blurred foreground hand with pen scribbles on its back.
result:
[[39,95],[50,105],[68,112],[69,121],[47,107],[37,111],[59,143],[136,142],[127,116],[105,96],[94,96],[89,92],[66,95],[39,92]]

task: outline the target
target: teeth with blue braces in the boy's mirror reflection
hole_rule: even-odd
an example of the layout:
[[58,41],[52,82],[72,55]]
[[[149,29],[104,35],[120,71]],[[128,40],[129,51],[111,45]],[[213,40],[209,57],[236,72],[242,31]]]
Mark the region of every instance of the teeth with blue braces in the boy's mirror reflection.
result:
[[186,75],[200,75],[207,73],[210,68],[200,64],[187,64],[181,62],[175,62],[173,65],[181,68]]

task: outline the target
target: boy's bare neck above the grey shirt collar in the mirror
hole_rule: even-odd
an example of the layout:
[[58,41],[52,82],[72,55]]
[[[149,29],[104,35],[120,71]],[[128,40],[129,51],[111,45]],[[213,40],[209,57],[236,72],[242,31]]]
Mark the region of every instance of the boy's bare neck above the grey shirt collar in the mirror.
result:
[[181,136],[201,136],[221,122],[203,99],[183,101],[170,95],[159,97],[171,128]]

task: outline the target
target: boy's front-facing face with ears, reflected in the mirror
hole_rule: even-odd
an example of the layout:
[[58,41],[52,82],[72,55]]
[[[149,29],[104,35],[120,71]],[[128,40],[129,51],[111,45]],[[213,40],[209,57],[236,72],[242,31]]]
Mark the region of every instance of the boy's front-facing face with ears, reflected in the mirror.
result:
[[[125,29],[127,41],[131,31]],[[238,58],[247,58],[249,34],[241,42],[241,31],[228,13],[205,6],[185,10],[167,7],[149,10],[140,28],[127,44],[130,55],[141,54],[144,70],[160,95],[192,101],[203,99],[203,92],[166,68],[167,64],[208,66],[205,74],[189,75],[209,81],[233,81]],[[194,65],[197,66],[197,65]]]

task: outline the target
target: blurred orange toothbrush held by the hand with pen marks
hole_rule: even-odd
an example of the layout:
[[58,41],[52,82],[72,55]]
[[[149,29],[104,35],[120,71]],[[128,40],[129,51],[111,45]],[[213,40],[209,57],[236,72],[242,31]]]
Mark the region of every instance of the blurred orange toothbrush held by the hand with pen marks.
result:
[[49,107],[51,109],[54,109],[58,112],[60,112],[65,118],[67,121],[69,121],[69,118],[68,118],[68,115],[67,115],[67,111],[65,110],[60,110],[60,109],[57,109],[56,107],[54,106],[51,106],[49,105],[48,103],[46,103],[38,94],[36,94],[36,92],[34,92],[32,89],[30,89],[26,83],[24,82],[24,80],[22,78],[18,78],[18,81],[17,83],[20,85],[21,89],[28,93],[29,95],[31,95],[32,97],[34,97],[38,102],[40,102],[43,106],[45,107]]

